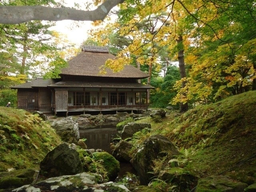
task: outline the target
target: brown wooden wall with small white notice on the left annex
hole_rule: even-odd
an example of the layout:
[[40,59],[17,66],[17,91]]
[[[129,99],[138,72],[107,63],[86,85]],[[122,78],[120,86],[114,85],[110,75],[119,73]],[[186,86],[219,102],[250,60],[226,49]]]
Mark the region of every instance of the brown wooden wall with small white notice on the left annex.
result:
[[38,110],[38,89],[18,89],[18,108]]

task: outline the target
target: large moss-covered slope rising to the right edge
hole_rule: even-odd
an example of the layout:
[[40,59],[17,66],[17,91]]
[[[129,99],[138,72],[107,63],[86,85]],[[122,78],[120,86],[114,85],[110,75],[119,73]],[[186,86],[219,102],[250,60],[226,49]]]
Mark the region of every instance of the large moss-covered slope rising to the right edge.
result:
[[[255,153],[255,108],[256,91],[250,91],[197,106],[184,114],[172,112],[161,123],[146,118],[138,122],[150,122],[151,132],[136,133],[132,142],[138,146],[152,134],[167,136],[180,149],[182,158],[186,153],[188,160],[182,165],[184,169],[192,170],[200,177],[214,175]],[[255,173],[256,158],[252,158],[225,174],[252,184],[256,182]]]

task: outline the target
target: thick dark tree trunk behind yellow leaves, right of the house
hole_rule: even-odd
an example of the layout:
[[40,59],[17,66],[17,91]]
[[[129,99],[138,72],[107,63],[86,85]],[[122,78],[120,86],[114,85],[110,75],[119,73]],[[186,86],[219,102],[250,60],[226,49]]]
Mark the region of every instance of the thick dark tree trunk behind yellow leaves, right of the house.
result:
[[[179,38],[176,40],[177,47],[178,47],[178,61],[179,61],[179,68],[180,68],[180,77],[186,77],[186,69],[185,69],[185,61],[184,61],[184,48],[182,43],[182,35],[179,35]],[[186,86],[186,82],[182,82],[182,88]],[[186,112],[188,110],[188,103],[181,103],[180,104],[180,112]]]

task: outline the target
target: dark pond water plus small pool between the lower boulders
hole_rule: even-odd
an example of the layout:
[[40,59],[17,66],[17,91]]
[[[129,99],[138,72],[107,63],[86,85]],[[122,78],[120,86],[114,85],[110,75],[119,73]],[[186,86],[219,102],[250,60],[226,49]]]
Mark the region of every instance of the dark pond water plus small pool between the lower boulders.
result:
[[[79,130],[80,138],[86,138],[88,149],[102,149],[112,154],[112,139],[118,137],[115,125],[98,125],[88,129]],[[137,174],[130,163],[120,162],[120,172],[116,180],[123,178],[126,172]]]

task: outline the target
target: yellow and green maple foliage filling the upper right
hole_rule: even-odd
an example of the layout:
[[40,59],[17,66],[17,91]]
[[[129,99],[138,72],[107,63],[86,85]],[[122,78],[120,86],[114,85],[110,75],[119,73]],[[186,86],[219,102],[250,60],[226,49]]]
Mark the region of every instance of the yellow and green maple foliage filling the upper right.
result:
[[[172,103],[180,103],[181,111],[192,100],[212,102],[255,87],[252,0],[130,0],[120,4],[117,14],[93,37],[107,44],[106,34],[115,31],[132,42],[106,67],[122,70],[131,55],[142,65],[158,65],[164,49],[168,60],[179,62],[181,80]],[[144,50],[149,50],[147,57]]]

